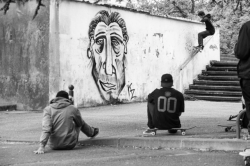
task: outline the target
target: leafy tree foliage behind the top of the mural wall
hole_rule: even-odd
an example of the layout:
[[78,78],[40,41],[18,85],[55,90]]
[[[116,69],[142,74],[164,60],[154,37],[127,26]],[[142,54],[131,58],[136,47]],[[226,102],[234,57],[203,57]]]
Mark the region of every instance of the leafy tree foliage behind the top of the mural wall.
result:
[[239,29],[249,20],[249,0],[128,0],[127,7],[162,16],[196,19],[203,10],[212,15],[213,24],[220,28],[220,49],[232,53]]

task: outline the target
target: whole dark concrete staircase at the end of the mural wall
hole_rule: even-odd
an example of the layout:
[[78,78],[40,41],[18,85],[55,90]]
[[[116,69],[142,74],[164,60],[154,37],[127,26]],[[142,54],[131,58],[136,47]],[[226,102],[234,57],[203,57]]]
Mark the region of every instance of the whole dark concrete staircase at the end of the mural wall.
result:
[[241,88],[237,77],[238,59],[234,55],[221,55],[221,61],[211,61],[194,80],[184,96],[188,99],[208,101],[241,101]]

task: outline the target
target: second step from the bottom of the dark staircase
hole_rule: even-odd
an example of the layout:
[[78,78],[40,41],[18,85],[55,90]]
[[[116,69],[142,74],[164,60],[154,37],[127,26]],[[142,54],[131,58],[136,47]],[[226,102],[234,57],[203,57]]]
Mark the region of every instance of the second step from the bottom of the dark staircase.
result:
[[186,90],[185,94],[193,95],[214,95],[214,96],[238,96],[241,97],[241,92],[232,91],[204,91],[204,90]]

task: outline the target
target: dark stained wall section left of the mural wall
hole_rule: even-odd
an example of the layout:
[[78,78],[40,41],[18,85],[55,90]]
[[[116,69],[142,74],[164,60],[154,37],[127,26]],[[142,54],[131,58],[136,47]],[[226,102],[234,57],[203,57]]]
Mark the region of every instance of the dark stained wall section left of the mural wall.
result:
[[49,100],[49,1],[43,3],[34,20],[35,0],[0,12],[0,103],[18,109],[40,110]]

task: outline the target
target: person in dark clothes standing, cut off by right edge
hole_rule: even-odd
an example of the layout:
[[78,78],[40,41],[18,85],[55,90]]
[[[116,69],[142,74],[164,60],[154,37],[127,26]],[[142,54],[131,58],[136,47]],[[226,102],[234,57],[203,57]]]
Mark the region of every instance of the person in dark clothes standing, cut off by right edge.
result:
[[[250,21],[242,25],[234,53],[235,57],[239,59],[237,73],[245,100],[246,115],[250,121]],[[248,133],[250,133],[250,123],[248,123]]]

